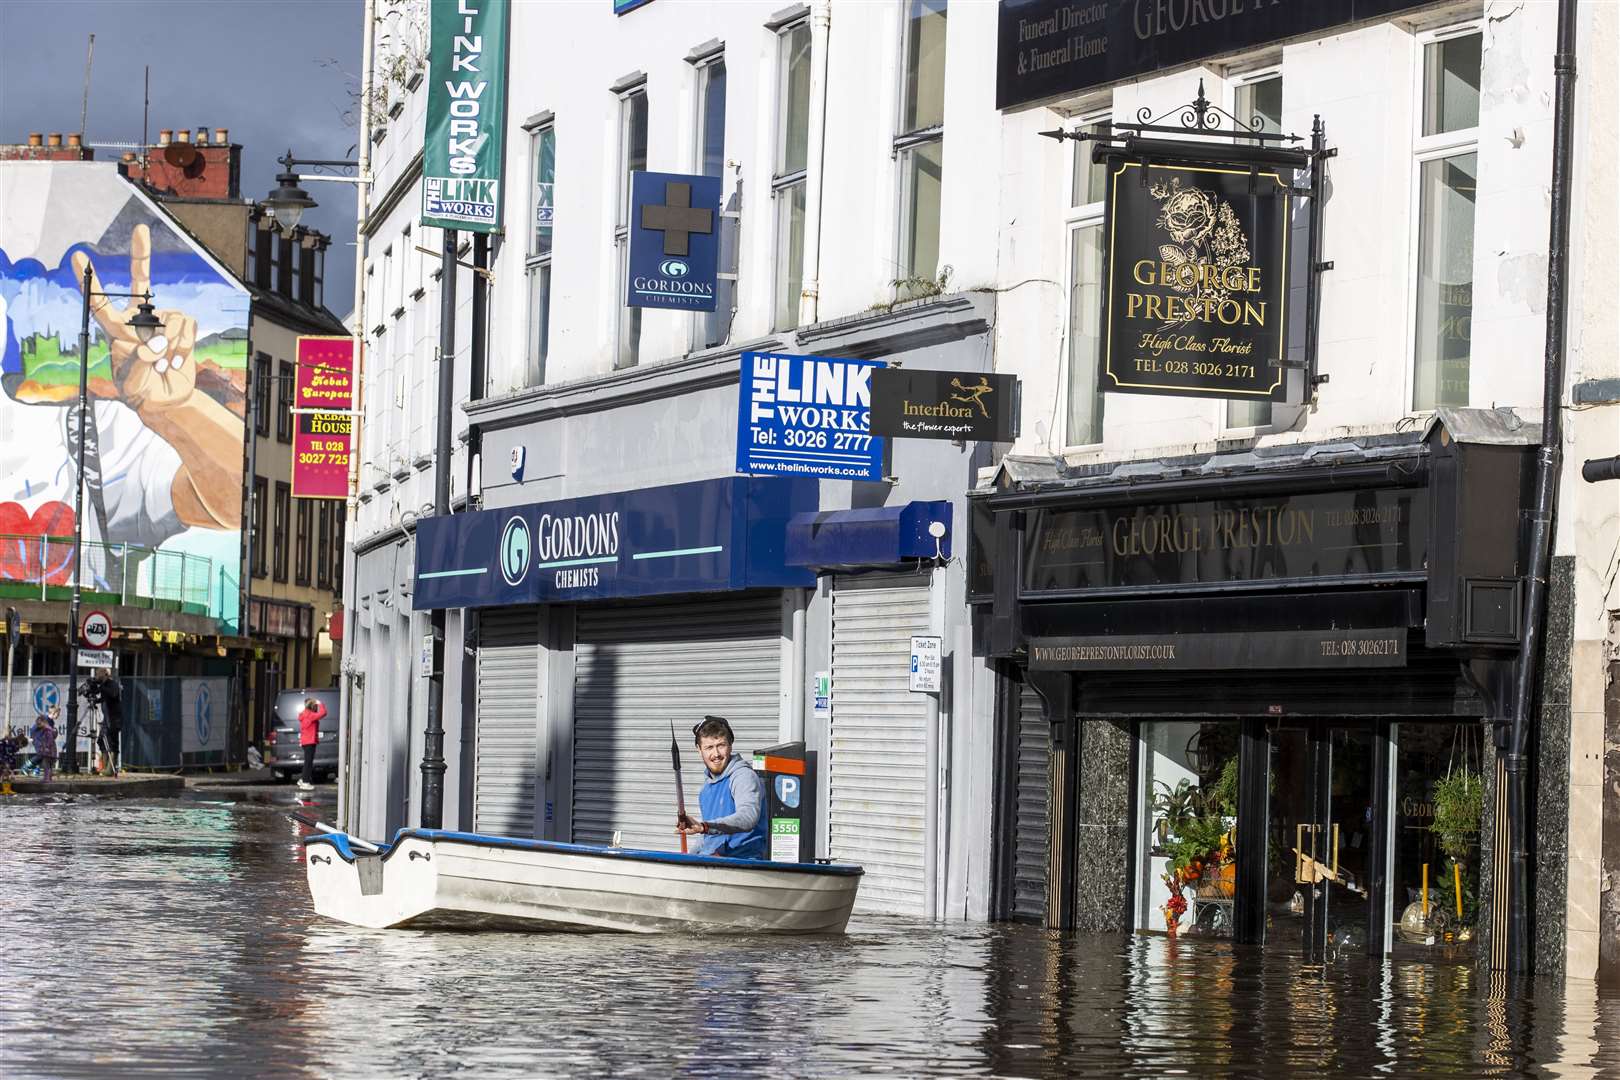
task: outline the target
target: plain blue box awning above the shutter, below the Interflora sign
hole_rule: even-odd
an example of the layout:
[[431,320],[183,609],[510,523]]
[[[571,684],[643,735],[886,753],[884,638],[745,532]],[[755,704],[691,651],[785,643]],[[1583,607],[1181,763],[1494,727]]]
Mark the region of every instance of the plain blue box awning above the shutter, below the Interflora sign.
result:
[[[944,536],[935,541],[928,526]],[[907,502],[902,507],[823,510],[787,520],[787,565],[816,570],[891,567],[910,559],[951,557],[951,504]]]

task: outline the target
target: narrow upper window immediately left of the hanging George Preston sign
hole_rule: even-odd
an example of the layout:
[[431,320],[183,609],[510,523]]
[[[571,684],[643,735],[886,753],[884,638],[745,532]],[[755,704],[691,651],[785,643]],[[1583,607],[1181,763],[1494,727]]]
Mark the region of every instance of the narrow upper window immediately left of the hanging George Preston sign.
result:
[[[1087,117],[1082,131],[1106,131],[1106,115]],[[1064,442],[1084,447],[1103,440],[1103,393],[1097,387],[1102,355],[1103,196],[1108,167],[1092,160],[1095,142],[1074,144],[1069,178],[1069,410]]]

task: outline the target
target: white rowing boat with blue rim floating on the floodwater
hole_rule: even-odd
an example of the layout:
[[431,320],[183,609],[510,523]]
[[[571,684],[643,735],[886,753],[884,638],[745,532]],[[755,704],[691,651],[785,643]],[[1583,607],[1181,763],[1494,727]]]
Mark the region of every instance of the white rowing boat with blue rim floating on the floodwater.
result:
[[400,829],[364,852],[305,837],[314,910],[395,929],[841,934],[860,866],[768,863]]

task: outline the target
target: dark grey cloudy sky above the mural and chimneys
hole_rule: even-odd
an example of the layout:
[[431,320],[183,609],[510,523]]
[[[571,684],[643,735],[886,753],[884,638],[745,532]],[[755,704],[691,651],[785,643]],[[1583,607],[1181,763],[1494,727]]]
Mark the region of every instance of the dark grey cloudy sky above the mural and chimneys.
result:
[[[139,142],[151,65],[152,142],[160,128],[230,128],[241,193],[264,198],[288,147],[353,159],[363,11],[361,0],[0,0],[0,142],[79,130],[96,34],[89,142]],[[305,222],[332,236],[326,303],[342,316],[353,295],[355,188],[306,188],[321,206]]]

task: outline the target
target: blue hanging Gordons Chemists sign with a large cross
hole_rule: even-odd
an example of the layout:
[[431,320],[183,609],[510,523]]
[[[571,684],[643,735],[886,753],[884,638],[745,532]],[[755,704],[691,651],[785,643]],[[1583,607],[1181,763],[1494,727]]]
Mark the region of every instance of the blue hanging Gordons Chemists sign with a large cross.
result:
[[714,311],[719,176],[630,173],[630,308]]

